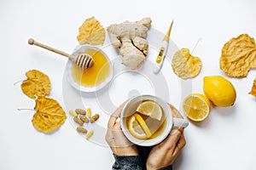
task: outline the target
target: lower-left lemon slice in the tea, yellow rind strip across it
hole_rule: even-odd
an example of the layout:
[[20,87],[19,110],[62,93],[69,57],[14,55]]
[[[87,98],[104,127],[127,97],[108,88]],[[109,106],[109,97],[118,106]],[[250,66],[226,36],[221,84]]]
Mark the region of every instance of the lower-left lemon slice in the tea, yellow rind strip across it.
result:
[[128,130],[137,139],[147,139],[152,135],[143,117],[137,113],[129,118]]

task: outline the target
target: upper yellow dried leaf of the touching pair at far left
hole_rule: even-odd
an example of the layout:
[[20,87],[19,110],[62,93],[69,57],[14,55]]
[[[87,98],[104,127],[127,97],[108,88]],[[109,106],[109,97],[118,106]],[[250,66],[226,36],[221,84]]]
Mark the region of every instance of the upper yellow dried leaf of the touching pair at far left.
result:
[[49,94],[50,81],[49,77],[41,71],[27,71],[27,80],[21,84],[21,89],[24,94],[32,99],[36,99],[36,96],[42,97]]

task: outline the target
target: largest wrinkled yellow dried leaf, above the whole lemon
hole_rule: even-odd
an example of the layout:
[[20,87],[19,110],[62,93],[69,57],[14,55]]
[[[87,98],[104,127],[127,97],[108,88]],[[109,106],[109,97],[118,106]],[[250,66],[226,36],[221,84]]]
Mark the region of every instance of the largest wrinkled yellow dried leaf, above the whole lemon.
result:
[[247,77],[248,71],[256,67],[256,44],[253,37],[241,34],[226,42],[219,65],[229,77]]

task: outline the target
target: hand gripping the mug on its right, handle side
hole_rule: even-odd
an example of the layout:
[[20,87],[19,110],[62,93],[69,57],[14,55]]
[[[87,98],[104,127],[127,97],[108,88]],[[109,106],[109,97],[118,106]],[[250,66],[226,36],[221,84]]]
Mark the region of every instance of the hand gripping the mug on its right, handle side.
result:
[[[177,109],[170,105],[172,110],[172,115],[183,118]],[[183,136],[183,127],[172,128],[171,133],[166,137],[166,139],[154,146],[150,151],[147,160],[147,169],[160,169],[162,167],[167,167],[172,164],[177,154],[183,149],[186,141]]]

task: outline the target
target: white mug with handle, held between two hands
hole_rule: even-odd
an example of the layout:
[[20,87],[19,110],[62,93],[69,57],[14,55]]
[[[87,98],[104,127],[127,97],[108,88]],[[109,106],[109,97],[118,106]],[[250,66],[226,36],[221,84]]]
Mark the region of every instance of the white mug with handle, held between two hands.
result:
[[[162,110],[165,112],[166,115],[166,126],[165,129],[163,129],[163,132],[160,133],[160,135],[156,136],[152,139],[137,139],[128,130],[128,127],[125,123],[125,117],[129,117],[133,115],[136,110],[137,106],[140,105],[145,100],[152,100],[156,102],[158,105],[161,106]],[[125,137],[129,139],[133,144],[142,145],[142,146],[151,146],[154,144],[159,144],[161,141],[166,139],[167,135],[171,132],[172,127],[188,127],[189,122],[185,119],[176,118],[172,116],[172,110],[170,108],[170,105],[163,99],[160,99],[158,97],[152,96],[152,95],[140,95],[137,97],[134,97],[130,99],[124,106],[122,112],[121,112],[121,127],[123,130],[123,133],[125,133]]]

